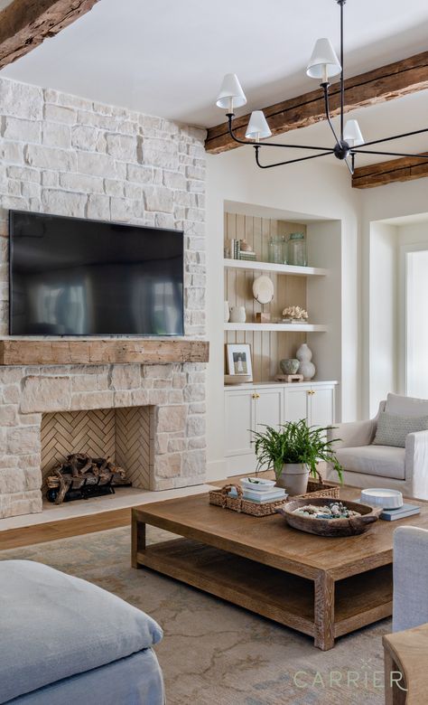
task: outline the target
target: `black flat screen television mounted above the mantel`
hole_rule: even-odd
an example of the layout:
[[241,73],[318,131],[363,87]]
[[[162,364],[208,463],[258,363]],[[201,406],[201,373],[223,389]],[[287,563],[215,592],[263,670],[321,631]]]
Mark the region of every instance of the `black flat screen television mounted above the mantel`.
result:
[[10,211],[11,335],[182,335],[183,233]]

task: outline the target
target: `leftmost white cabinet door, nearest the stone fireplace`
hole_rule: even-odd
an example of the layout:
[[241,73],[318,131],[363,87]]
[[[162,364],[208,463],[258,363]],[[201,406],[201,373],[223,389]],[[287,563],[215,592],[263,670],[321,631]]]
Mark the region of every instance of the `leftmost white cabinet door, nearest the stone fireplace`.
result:
[[254,428],[253,390],[225,392],[225,455],[254,453],[250,429]]

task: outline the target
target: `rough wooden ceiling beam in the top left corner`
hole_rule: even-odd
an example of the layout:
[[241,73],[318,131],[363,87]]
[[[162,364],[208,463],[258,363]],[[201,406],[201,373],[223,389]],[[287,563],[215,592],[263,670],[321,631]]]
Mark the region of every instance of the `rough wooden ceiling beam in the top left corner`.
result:
[[13,0],[0,12],[0,69],[86,14],[98,0]]

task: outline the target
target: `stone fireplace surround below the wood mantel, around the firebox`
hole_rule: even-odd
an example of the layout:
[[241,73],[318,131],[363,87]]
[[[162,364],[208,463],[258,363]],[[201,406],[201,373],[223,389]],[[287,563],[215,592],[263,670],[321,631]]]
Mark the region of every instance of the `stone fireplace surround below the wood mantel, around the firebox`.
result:
[[42,511],[42,412],[154,408],[147,489],[205,478],[205,365],[0,368],[0,517]]

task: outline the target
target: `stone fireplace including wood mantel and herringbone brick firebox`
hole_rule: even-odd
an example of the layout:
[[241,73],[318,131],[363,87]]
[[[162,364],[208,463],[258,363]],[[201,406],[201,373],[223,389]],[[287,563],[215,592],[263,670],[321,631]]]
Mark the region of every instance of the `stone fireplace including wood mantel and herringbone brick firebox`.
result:
[[[204,482],[207,343],[16,343],[0,350],[0,518],[41,512],[43,476],[74,451],[113,454],[135,487]],[[49,363],[70,350],[94,363]]]

